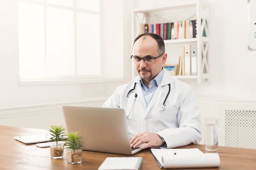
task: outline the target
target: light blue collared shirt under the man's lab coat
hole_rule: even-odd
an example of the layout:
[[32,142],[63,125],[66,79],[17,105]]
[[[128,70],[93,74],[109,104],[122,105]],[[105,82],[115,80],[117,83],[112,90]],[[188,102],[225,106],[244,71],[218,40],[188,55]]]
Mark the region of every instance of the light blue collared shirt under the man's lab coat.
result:
[[151,80],[151,82],[149,83],[149,88],[147,88],[144,84],[143,81],[140,77],[140,85],[144,94],[144,99],[145,99],[145,104],[148,108],[148,105],[152,99],[152,97],[154,96],[154,93],[157,90],[157,87],[160,85],[160,82],[163,79],[163,73],[164,73],[164,69],[162,69],[162,71],[157,74],[157,76]]

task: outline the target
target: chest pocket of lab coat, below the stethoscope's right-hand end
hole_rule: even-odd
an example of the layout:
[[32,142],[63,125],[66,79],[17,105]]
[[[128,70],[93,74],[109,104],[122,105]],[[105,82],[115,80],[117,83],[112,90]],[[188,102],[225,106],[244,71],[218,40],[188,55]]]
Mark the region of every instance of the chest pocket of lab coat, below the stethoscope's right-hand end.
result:
[[177,114],[179,109],[173,106],[166,106],[163,110],[160,108],[154,109],[153,114],[153,129],[154,132],[159,132],[171,127],[178,127]]

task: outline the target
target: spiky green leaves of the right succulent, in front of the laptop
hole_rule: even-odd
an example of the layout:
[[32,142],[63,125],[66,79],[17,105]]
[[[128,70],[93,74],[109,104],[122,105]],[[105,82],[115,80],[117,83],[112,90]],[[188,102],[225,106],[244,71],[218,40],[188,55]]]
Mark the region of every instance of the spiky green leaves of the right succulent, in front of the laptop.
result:
[[75,152],[77,149],[82,149],[83,142],[82,142],[82,136],[78,134],[78,132],[70,132],[67,133],[67,140],[65,143],[65,146],[67,146],[68,149],[71,149]]

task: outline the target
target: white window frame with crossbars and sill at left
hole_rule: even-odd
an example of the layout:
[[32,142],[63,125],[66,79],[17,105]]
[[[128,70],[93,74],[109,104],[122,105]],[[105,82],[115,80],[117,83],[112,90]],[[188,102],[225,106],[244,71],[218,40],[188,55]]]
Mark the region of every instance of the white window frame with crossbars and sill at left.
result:
[[[74,63],[75,63],[75,74],[67,76],[49,76],[44,78],[37,79],[21,79],[20,78],[20,69],[19,71],[19,85],[52,85],[52,84],[73,84],[73,83],[94,83],[94,82],[120,82],[123,79],[105,79],[104,78],[104,57],[102,53],[103,41],[99,40],[99,58],[100,58],[100,75],[78,75],[77,67],[77,12],[87,13],[87,14],[99,14],[99,37],[103,35],[102,29],[102,0],[99,0],[99,11],[90,11],[82,8],[76,7],[76,0],[73,0],[73,6],[63,6],[58,4],[47,3],[47,0],[35,1],[35,0],[18,0],[18,3],[29,3],[35,5],[41,5],[44,7],[44,59],[45,59],[45,68],[47,65],[47,7],[70,10],[74,12]],[[19,61],[20,64],[20,61]]]

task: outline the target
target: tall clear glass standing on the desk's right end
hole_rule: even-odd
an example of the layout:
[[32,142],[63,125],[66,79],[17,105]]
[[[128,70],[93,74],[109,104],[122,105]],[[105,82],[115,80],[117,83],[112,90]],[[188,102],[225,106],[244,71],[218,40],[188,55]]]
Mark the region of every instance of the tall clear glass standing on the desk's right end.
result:
[[218,118],[204,119],[205,153],[218,153]]

